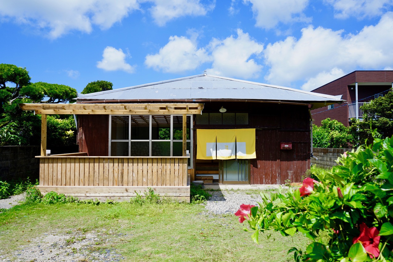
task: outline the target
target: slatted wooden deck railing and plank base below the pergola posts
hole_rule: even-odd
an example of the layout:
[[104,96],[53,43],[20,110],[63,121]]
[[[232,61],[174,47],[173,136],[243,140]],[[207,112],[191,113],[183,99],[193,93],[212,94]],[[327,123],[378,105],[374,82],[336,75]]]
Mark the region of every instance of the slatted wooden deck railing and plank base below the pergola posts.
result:
[[160,196],[190,199],[188,157],[90,157],[85,153],[39,156],[42,194],[79,199],[129,200],[152,188]]

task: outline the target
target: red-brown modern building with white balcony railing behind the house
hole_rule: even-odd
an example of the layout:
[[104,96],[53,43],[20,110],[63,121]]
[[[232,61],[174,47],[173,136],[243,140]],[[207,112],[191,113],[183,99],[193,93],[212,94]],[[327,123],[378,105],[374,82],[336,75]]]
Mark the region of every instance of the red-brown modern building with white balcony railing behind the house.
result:
[[383,96],[393,87],[393,71],[354,71],[340,77],[326,85],[318,87],[311,92],[343,95],[343,103],[325,105],[311,111],[314,124],[320,125],[326,118],[335,119],[345,126],[350,125],[350,119],[362,119],[360,109],[370,100]]

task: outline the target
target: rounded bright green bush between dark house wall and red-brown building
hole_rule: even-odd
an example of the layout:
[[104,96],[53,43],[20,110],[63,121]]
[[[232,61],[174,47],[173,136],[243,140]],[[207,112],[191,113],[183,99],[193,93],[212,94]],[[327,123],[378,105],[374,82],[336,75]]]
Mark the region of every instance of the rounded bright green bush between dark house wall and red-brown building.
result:
[[321,126],[312,125],[312,146],[316,148],[348,148],[352,134],[337,120],[326,118]]

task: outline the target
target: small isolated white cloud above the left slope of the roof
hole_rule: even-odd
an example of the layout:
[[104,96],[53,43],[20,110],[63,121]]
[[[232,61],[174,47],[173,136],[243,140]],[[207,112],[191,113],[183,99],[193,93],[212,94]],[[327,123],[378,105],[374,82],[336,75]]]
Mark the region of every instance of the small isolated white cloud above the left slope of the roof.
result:
[[102,60],[97,62],[97,67],[105,71],[122,70],[127,73],[133,73],[135,66],[127,64],[125,58],[126,55],[123,53],[123,50],[107,46],[102,54]]

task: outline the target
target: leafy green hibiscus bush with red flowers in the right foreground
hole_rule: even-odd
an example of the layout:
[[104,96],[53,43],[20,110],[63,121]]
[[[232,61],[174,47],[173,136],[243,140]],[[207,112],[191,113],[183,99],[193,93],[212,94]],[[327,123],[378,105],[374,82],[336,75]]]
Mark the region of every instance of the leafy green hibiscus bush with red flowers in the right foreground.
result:
[[[337,162],[286,194],[261,193],[258,207],[241,205],[235,214],[248,222],[252,239],[258,242],[269,229],[284,236],[304,234],[311,244],[288,251],[297,262],[392,261],[393,138],[374,138]],[[322,232],[329,241],[318,237]]]

